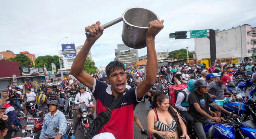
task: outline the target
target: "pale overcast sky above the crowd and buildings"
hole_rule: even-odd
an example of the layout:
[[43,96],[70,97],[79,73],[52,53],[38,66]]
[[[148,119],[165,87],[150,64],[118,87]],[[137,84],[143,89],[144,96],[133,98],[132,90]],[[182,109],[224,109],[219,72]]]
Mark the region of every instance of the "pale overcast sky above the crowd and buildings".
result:
[[[59,44],[83,45],[84,27],[101,24],[121,17],[129,7],[144,7],[164,19],[164,29],[155,39],[157,52],[189,47],[194,51],[194,39],[169,39],[169,33],[198,29],[229,29],[250,24],[256,27],[255,0],[225,1],[85,1],[85,0],[0,0],[0,51],[11,50],[15,54],[29,51],[38,56],[57,55]],[[117,44],[122,44],[122,25],[118,23],[104,30],[92,46],[92,59],[98,66],[106,66],[115,58]],[[146,48],[138,50],[139,56]]]

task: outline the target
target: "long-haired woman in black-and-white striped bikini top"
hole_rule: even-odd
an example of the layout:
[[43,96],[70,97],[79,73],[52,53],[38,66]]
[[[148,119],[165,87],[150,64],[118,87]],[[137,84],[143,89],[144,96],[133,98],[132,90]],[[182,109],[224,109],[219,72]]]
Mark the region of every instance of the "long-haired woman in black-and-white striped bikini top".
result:
[[169,98],[163,93],[156,93],[152,102],[152,110],[147,116],[150,134],[160,133],[166,139],[189,139],[186,126],[177,111],[170,106]]

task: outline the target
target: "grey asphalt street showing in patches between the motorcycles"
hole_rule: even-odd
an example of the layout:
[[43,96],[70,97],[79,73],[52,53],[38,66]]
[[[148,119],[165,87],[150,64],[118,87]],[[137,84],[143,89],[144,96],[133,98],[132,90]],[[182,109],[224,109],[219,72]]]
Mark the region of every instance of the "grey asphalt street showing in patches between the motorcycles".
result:
[[[65,106],[67,106],[67,101],[68,99],[66,99],[66,104]],[[95,104],[95,99],[94,102]],[[137,105],[137,107],[135,108],[135,112],[136,115],[138,117],[138,119],[140,120],[142,126],[144,129],[147,129],[147,121],[146,121],[146,117],[148,112],[150,111],[150,108],[148,107],[149,105],[149,101],[146,99],[145,103],[141,102]],[[28,115],[30,116],[30,115]],[[75,120],[75,116],[73,116],[73,119]],[[96,112],[94,113],[94,116],[96,117]],[[66,117],[67,119],[69,119],[69,116]],[[75,122],[75,121],[74,121]],[[23,120],[21,120],[21,124],[25,125],[25,123],[23,122]],[[73,128],[74,128],[74,124],[73,124]],[[80,126],[78,126],[78,128],[80,128]],[[78,129],[77,128],[77,129]],[[24,137],[24,134],[21,133],[21,130],[17,131],[16,133],[13,133],[13,137]],[[83,138],[83,132],[80,130],[77,130],[77,132],[75,133],[75,137],[76,139],[82,139]],[[140,128],[137,126],[137,124],[134,122],[134,139],[146,139],[148,136],[141,134],[141,130]]]

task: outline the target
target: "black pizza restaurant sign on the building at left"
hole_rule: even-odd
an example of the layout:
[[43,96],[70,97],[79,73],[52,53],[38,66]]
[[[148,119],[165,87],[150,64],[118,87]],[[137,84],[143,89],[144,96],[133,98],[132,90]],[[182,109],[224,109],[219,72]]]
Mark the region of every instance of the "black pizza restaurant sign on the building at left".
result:
[[20,66],[21,76],[44,75],[43,67]]

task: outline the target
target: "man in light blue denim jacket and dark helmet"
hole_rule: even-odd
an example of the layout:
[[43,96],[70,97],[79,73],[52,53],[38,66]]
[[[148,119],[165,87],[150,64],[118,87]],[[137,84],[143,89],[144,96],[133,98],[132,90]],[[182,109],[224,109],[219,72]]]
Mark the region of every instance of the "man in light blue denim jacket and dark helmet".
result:
[[[65,115],[58,110],[59,103],[56,100],[51,100],[47,103],[47,107],[50,112],[44,117],[39,139],[44,139],[45,136],[52,136],[55,139],[67,139],[67,121]],[[53,132],[53,127],[58,127],[59,132]]]

